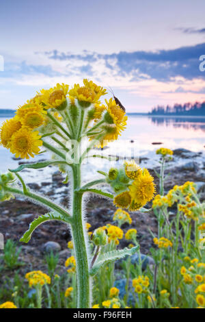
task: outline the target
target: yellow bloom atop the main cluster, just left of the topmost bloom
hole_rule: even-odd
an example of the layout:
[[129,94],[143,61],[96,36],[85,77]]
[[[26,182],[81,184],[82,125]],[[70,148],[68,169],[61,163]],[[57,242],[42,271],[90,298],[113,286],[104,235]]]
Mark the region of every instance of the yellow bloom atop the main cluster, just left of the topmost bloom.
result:
[[68,85],[57,83],[56,86],[49,90],[42,89],[42,102],[46,108],[61,108],[66,102],[66,95],[68,94]]

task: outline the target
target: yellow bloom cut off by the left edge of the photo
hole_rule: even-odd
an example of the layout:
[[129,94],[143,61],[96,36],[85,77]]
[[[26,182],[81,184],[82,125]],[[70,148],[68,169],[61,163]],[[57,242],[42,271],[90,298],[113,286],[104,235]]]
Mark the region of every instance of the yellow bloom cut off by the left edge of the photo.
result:
[[12,135],[16,133],[21,126],[22,125],[16,116],[13,119],[3,122],[3,125],[0,128],[0,145],[9,148]]

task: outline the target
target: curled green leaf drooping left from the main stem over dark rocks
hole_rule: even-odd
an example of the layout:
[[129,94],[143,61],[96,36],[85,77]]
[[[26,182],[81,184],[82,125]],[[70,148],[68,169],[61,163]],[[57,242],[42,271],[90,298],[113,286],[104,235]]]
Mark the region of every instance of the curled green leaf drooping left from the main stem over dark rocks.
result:
[[38,218],[34,219],[29,225],[29,229],[23,234],[23,236],[20,238],[20,241],[24,243],[28,243],[29,240],[31,239],[31,235],[33,234],[34,230],[44,223],[44,221],[50,221],[50,220],[59,220],[59,221],[65,221],[64,217],[61,216],[61,214],[57,214],[55,212],[53,213],[47,213],[47,214],[42,214]]

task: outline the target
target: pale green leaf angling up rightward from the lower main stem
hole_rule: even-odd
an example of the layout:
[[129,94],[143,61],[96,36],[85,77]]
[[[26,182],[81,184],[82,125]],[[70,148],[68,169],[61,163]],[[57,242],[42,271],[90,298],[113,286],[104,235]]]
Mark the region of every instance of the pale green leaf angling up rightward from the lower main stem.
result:
[[108,251],[107,253],[100,253],[98,256],[96,262],[94,263],[94,266],[90,269],[90,275],[95,275],[102,267],[103,264],[107,262],[113,262],[115,260],[119,260],[120,258],[124,258],[125,256],[131,256],[139,249],[139,246],[135,246],[131,249],[124,248],[114,251]]

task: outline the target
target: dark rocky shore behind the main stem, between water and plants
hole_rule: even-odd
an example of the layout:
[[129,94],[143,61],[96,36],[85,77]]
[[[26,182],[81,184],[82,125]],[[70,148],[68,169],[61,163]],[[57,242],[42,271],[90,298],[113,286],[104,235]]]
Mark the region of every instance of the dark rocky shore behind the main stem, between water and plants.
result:
[[[154,176],[156,186],[159,186],[159,179],[156,177],[151,169],[153,160],[149,158],[142,158],[141,164],[146,166],[150,173]],[[22,163],[21,161],[19,163]],[[155,164],[157,164],[155,162]],[[159,166],[154,166],[156,171],[159,171]],[[34,170],[35,171],[35,170]],[[44,171],[44,170],[42,170]],[[49,171],[49,172],[48,172]],[[59,203],[66,206],[69,202],[69,183],[62,184],[64,176],[57,171],[56,168],[49,168],[49,179],[42,179],[34,174],[33,171],[24,170],[26,181],[29,182],[29,188],[38,191],[38,193],[51,197]],[[174,158],[169,162],[165,174],[169,176],[165,182],[165,192],[171,189],[175,184],[183,184],[186,181],[193,181],[197,185],[197,190],[200,193],[200,199],[205,200],[205,160],[203,153],[195,153],[186,149],[174,150]],[[35,179],[35,176],[37,179]],[[42,176],[43,178],[43,176]],[[45,177],[46,178],[46,177]],[[148,205],[149,207],[150,205]],[[102,197],[90,196],[87,201],[87,222],[92,227],[91,231],[96,227],[107,225],[111,223],[115,207],[111,201]],[[40,206],[31,203],[20,197],[9,202],[0,203],[0,232],[3,234],[5,240],[12,238],[16,242],[28,229],[29,223],[33,221],[38,215],[44,214],[46,210]],[[175,209],[173,209],[173,216]],[[141,253],[148,253],[148,249],[152,246],[152,236],[149,230],[153,233],[157,231],[156,218],[153,212],[141,213],[139,211],[132,212],[131,218],[133,223],[131,225],[124,224],[122,229],[124,231],[128,228],[135,227]],[[53,249],[59,253],[59,269],[64,271],[64,261],[69,256],[70,251],[67,248],[67,243],[70,240],[70,232],[64,223],[57,221],[49,221],[38,227],[33,233],[33,236],[28,244],[18,242],[22,247],[20,257],[29,266],[30,269],[44,269],[43,254],[46,251]],[[122,240],[122,246],[128,245],[127,240]],[[0,252],[1,256],[1,252]],[[0,257],[1,258],[1,257]],[[0,260],[1,262],[1,260]],[[21,268],[24,269],[24,268]],[[27,268],[28,269],[28,268]]]

